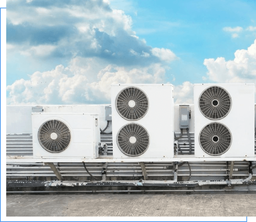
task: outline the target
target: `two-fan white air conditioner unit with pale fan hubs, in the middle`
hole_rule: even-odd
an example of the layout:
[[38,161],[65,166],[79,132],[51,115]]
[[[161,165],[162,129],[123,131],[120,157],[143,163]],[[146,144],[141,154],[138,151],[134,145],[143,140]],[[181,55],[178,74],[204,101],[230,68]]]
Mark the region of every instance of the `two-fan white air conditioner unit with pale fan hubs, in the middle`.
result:
[[114,158],[172,158],[171,84],[111,85]]

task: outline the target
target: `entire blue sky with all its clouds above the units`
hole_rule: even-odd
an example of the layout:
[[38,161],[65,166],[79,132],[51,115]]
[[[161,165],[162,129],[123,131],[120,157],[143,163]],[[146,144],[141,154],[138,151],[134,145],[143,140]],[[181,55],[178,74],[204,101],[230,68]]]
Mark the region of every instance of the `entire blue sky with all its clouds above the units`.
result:
[[7,105],[110,104],[112,83],[256,85],[256,0],[6,0]]

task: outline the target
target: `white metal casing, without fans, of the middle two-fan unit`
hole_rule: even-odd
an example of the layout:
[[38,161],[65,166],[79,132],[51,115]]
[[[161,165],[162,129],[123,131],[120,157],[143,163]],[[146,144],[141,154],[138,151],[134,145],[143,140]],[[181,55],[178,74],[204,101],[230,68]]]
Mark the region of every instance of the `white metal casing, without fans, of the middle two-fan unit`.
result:
[[[118,93],[134,86],[148,97],[148,111],[136,121],[122,118],[116,110],[115,100]],[[113,158],[172,158],[174,156],[174,102],[171,84],[114,84],[111,85]],[[117,133],[128,123],[142,125],[149,134],[150,142],[145,153],[139,156],[127,156],[117,145]]]

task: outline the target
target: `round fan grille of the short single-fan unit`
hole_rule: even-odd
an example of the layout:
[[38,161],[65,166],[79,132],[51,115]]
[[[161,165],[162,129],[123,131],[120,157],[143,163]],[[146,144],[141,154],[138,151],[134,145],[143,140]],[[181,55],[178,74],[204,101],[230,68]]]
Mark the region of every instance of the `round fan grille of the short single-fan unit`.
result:
[[52,153],[67,149],[71,139],[68,126],[58,119],[45,121],[39,128],[37,136],[40,145]]

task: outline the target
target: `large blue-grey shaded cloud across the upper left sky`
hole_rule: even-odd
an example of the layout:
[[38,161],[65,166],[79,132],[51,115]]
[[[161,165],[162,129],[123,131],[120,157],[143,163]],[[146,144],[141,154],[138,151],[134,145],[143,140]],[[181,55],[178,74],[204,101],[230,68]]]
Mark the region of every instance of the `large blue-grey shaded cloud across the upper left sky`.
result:
[[171,50],[152,49],[139,39],[132,30],[132,18],[122,10],[112,9],[108,1],[7,4],[6,43],[17,46],[16,51],[23,56],[101,57],[111,64],[142,66],[176,58]]

